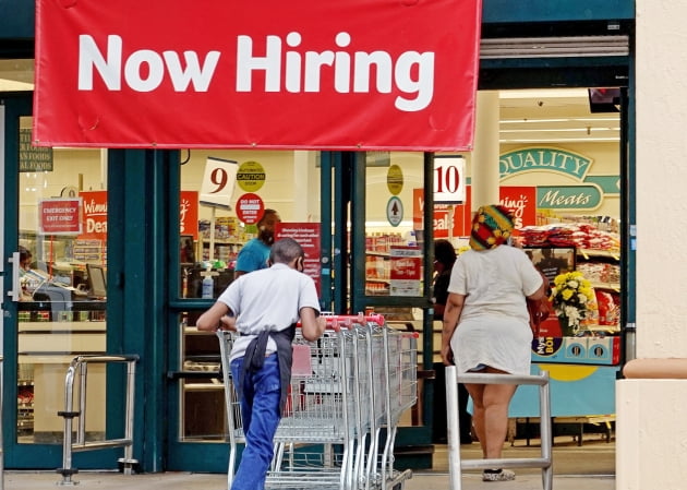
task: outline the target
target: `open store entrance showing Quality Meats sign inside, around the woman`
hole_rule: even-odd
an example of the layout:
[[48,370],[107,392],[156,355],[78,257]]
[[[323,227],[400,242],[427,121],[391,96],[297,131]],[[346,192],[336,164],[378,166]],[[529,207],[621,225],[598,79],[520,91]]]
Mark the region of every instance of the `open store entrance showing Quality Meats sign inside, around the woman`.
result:
[[[575,275],[589,299],[588,304],[575,307],[581,320],[564,325],[558,314],[564,316],[570,306],[558,283],[553,301],[557,313],[532,344],[533,372],[547,370],[552,379],[556,444],[578,447],[596,441],[604,451],[613,451],[608,442],[614,437],[615,381],[632,355],[628,348],[632,331],[626,328],[632,322],[627,276],[631,249],[623,227],[630,199],[626,89],[494,87],[490,92],[498,108],[479,113],[497,131],[499,165],[493,179],[486,180],[516,215],[518,242],[534,264],[552,283]],[[483,118],[479,128],[485,126]],[[475,160],[475,154],[468,166],[472,195],[485,182],[485,172],[477,167],[483,163]],[[469,235],[474,211],[470,204],[468,198],[466,205],[455,208],[458,223],[451,240],[458,251],[467,247],[461,237]],[[435,363],[435,369],[433,440],[443,443],[443,368]],[[510,406],[514,446],[529,445],[539,435],[535,401],[534,393],[518,389]]]

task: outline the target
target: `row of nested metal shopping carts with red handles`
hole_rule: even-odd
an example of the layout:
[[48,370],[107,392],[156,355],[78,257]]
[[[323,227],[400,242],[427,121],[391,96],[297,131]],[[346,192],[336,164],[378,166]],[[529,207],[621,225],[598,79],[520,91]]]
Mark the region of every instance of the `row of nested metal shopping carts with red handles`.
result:
[[[229,356],[234,333],[218,332],[230,443],[228,488],[245,442]],[[267,489],[402,489],[394,468],[401,415],[418,399],[417,334],[382,315],[330,315],[315,342],[297,328],[286,408]]]

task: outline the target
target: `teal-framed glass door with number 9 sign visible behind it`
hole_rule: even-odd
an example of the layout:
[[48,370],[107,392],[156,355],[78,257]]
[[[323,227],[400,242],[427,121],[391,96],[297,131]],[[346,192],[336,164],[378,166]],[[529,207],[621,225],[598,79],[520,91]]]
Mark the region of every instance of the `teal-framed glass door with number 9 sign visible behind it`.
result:
[[196,320],[233,280],[244,243],[265,238],[240,202],[257,200],[284,224],[320,223],[320,160],[315,152],[194,148],[181,152],[170,174],[170,208],[178,205],[179,213],[170,212],[169,229],[179,231],[169,240],[167,469],[224,473],[229,449],[219,342],[198,332]]

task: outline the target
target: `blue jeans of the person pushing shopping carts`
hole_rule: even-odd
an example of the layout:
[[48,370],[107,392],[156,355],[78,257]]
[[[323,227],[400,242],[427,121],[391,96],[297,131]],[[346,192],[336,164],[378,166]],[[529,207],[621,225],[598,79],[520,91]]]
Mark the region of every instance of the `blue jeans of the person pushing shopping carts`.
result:
[[[243,358],[231,361],[231,375],[236,383],[241,379]],[[265,358],[263,368],[245,372],[241,393],[241,419],[245,434],[245,449],[231,490],[263,490],[265,477],[274,454],[273,439],[279,426],[279,360],[276,354]]]

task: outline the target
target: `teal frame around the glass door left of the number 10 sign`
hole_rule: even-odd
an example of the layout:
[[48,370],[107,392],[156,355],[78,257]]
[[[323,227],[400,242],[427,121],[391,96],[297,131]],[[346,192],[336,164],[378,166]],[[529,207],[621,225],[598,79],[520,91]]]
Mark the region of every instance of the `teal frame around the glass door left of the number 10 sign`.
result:
[[[423,420],[421,426],[399,428],[396,438],[398,467],[430,468],[432,466],[431,407],[434,398],[432,375],[432,273],[434,250],[432,237],[425,234],[423,244],[423,285],[421,297],[379,297],[365,295],[365,153],[325,152],[322,158],[322,229],[333,230],[324,238],[323,256],[333,264],[334,277],[326,283],[330,289],[323,292],[325,309],[335,313],[351,314],[365,311],[366,307],[413,307],[423,311],[422,333],[424,352],[422,370],[425,374],[422,396]],[[432,223],[433,208],[433,154],[424,154],[424,223]],[[330,207],[334,203],[334,210]],[[351,223],[350,242],[346,224]],[[326,235],[326,234],[325,234]],[[349,246],[350,243],[350,246]],[[326,251],[332,255],[325,255]],[[413,449],[412,457],[402,457]]]

